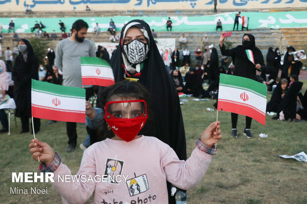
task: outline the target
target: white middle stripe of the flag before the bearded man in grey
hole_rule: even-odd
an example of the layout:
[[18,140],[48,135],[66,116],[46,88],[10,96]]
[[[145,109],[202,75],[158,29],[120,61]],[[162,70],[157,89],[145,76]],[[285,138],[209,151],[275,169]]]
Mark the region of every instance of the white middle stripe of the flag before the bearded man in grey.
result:
[[82,65],[81,72],[82,78],[96,77],[100,79],[114,79],[113,70],[108,67]]

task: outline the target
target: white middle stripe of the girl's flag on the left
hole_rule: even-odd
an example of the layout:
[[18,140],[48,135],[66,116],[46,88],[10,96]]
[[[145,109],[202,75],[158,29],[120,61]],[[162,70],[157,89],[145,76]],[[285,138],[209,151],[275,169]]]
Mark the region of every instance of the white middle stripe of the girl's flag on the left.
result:
[[32,104],[55,109],[85,112],[85,100],[31,91]]

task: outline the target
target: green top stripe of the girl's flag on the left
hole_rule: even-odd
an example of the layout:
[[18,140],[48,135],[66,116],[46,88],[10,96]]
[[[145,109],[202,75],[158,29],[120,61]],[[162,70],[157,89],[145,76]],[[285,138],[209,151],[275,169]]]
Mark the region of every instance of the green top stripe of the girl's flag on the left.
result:
[[40,82],[32,79],[32,90],[70,98],[85,99],[85,89]]

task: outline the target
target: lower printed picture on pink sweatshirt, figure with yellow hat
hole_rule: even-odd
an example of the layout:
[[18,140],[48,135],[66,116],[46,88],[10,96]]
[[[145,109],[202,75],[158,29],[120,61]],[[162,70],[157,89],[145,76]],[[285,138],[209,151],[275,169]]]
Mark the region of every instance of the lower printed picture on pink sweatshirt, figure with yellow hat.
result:
[[149,184],[146,174],[141,176],[136,176],[134,173],[134,178],[127,180],[127,187],[130,193],[130,196],[135,196],[140,193],[144,193],[149,189]]

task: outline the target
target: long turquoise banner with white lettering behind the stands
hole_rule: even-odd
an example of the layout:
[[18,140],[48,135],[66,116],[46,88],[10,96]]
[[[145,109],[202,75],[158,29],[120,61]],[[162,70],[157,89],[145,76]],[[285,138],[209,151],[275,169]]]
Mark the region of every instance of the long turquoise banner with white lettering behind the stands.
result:
[[[172,32],[210,32],[216,31],[216,22],[221,20],[223,31],[232,31],[236,12],[220,13],[207,16],[170,16],[172,20]],[[306,28],[307,11],[289,11],[289,12],[242,12],[244,18],[248,18],[249,29],[257,28]],[[79,17],[67,18],[14,18],[16,33],[30,33],[31,27],[35,21],[42,21],[46,28],[44,31],[61,32],[57,24],[58,20],[65,23],[66,28],[70,28]],[[94,32],[96,23],[99,24],[100,32],[106,32],[109,27],[110,17],[83,17],[89,24],[88,32]],[[144,19],[154,31],[167,31],[166,21],[168,17],[161,16],[114,16],[112,17],[116,25],[116,31],[119,33],[124,24],[134,19]],[[11,18],[0,18],[2,22],[2,32],[8,31],[8,23]],[[56,23],[54,23],[56,22]],[[239,18],[239,24],[243,20]],[[170,33],[171,34],[171,33]],[[171,36],[170,36],[171,37]]]

